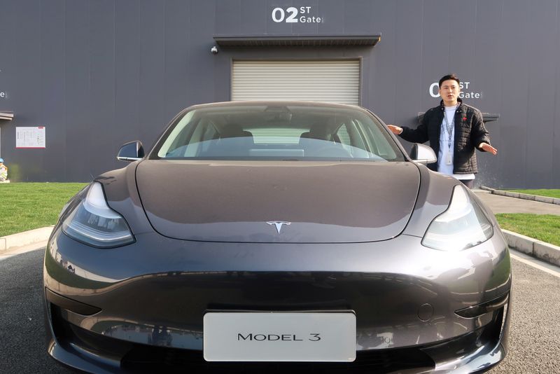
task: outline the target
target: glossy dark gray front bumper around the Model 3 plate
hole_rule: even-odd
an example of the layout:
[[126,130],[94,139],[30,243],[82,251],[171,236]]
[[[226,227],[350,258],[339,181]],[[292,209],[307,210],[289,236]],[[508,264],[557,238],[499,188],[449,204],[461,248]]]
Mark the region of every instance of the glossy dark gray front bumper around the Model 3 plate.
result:
[[356,361],[276,368],[475,372],[507,352],[510,299],[477,317],[456,314],[510,293],[509,253],[497,230],[457,253],[428,249],[408,235],[286,245],[146,234],[126,247],[94,249],[55,230],[44,282],[48,352],[91,372],[150,365],[262,370],[265,363],[204,361],[202,317],[209,310],[356,313]]

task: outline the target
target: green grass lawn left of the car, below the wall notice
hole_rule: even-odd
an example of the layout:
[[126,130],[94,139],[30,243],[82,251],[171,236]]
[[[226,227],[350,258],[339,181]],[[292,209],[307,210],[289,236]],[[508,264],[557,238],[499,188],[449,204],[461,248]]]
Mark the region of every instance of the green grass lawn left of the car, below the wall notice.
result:
[[60,209],[87,183],[0,183],[0,237],[54,225]]

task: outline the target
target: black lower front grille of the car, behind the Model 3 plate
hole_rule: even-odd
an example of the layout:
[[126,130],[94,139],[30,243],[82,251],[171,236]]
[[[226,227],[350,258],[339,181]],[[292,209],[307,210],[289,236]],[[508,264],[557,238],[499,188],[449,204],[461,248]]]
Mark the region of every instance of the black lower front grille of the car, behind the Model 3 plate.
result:
[[505,314],[502,307],[493,312],[490,324],[444,342],[423,347],[358,351],[356,361],[351,363],[222,363],[204,361],[201,351],[155,347],[92,333],[66,321],[56,305],[50,304],[50,307],[52,326],[59,344],[73,343],[99,356],[120,358],[121,368],[131,373],[289,373],[294,370],[305,370],[307,373],[393,373],[407,369],[430,370],[435,367],[435,361],[462,356],[465,349],[497,344]]

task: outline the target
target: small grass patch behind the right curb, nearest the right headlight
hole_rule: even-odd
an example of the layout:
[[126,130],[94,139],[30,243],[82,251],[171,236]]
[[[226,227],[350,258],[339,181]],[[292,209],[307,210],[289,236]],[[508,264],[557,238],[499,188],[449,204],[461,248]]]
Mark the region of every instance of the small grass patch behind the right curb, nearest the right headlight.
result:
[[500,227],[533,239],[560,246],[560,216],[552,214],[496,214]]

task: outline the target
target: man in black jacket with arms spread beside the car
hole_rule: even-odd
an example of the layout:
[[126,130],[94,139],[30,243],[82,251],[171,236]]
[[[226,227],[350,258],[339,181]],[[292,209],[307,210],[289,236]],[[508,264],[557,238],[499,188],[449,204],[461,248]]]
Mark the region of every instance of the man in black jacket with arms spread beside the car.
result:
[[490,145],[482,113],[459,99],[459,78],[455,74],[440,79],[440,106],[428,110],[416,129],[388,125],[393,134],[414,143],[430,141],[437,154],[437,165],[428,165],[437,172],[454,176],[468,188],[475,185],[477,156],[479,151],[493,155],[498,150]]

